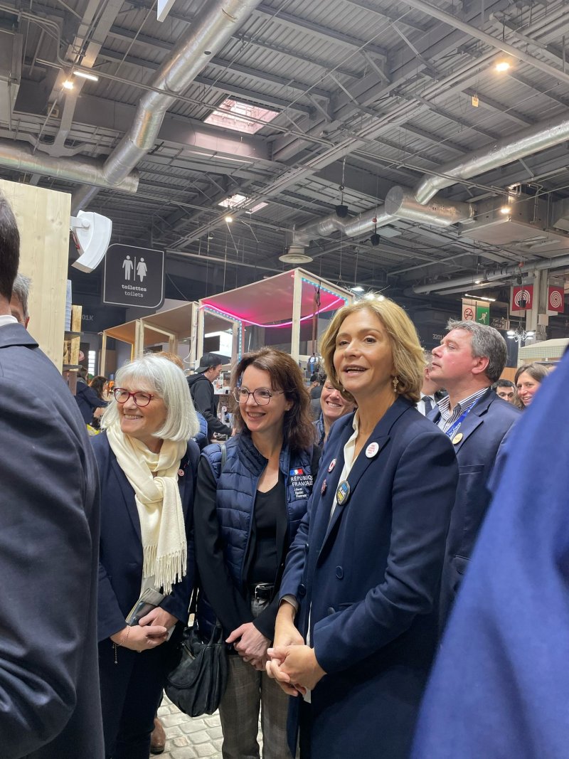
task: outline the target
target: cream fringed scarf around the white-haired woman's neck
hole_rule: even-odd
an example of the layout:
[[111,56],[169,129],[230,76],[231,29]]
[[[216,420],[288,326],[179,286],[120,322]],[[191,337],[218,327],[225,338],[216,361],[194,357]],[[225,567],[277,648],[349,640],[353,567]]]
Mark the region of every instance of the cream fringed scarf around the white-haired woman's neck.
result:
[[[159,453],[121,432],[120,424],[107,429],[108,443],[118,465],[134,488],[143,544],[143,581],[154,576],[165,594],[186,574],[187,543],[178,490],[178,469],[185,442],[165,440]],[[154,476],[152,476],[154,474]]]

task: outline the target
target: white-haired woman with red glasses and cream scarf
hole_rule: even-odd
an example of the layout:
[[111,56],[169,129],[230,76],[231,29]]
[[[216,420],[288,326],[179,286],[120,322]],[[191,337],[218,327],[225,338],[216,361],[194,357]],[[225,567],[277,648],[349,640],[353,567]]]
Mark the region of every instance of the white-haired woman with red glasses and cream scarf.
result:
[[[99,679],[105,757],[148,759],[173,641],[187,623],[199,429],[184,373],[145,355],[118,370],[104,433],[93,438],[101,486]],[[189,442],[188,442],[189,441]],[[165,597],[125,621],[146,588]],[[69,599],[69,603],[73,603]],[[168,641],[168,642],[167,642]],[[141,655],[139,655],[141,654]]]

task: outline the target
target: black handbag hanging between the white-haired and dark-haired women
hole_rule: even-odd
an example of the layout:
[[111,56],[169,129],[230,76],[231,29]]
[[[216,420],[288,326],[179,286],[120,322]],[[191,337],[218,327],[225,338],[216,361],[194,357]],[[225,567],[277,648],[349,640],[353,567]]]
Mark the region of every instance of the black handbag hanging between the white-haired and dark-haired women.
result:
[[[190,613],[195,613],[194,592]],[[212,714],[225,693],[228,679],[227,647],[219,623],[213,628],[209,641],[203,641],[194,614],[191,627],[184,630],[181,657],[166,676],[166,695],[184,714]]]

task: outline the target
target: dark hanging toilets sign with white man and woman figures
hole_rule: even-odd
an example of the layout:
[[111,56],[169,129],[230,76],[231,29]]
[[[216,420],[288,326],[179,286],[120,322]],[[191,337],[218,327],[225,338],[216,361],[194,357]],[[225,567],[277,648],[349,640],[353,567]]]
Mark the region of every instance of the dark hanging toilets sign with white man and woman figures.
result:
[[164,300],[164,251],[109,245],[105,255],[103,303],[158,308]]

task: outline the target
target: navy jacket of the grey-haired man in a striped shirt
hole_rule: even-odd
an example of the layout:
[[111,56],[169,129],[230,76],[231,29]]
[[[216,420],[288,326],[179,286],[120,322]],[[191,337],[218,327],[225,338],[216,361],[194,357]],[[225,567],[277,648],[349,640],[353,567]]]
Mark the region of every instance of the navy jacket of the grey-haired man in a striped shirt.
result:
[[[444,627],[467,570],[470,554],[486,516],[492,494],[488,487],[495,460],[520,411],[498,398],[492,389],[479,399],[459,430],[462,438],[454,446],[460,472],[457,497],[448,530],[445,568],[442,575],[440,617]],[[429,419],[438,424],[440,411]]]

